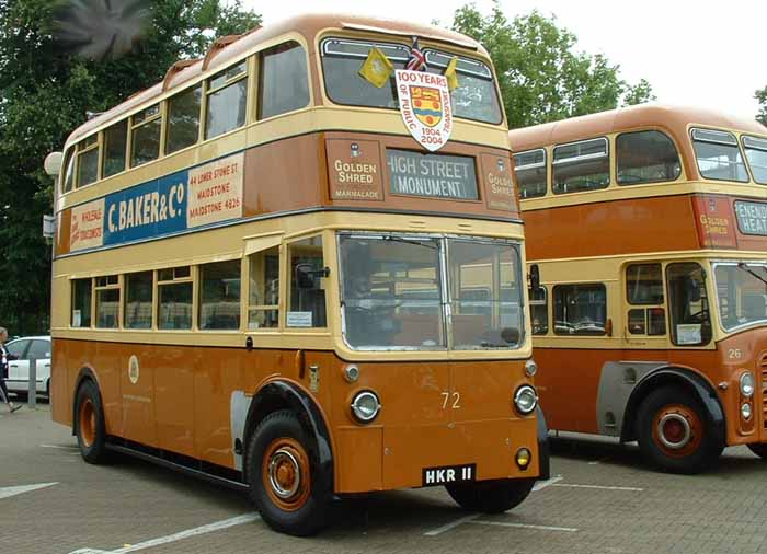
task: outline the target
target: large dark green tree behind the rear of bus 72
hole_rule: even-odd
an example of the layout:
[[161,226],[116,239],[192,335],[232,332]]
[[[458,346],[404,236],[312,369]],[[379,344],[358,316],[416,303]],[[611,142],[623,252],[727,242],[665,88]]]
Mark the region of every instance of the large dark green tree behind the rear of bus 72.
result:
[[154,0],[151,24],[133,49],[100,62],[68,54],[54,37],[60,5],[0,0],[0,325],[11,334],[49,325],[50,249],[41,234],[53,187],[45,155],[88,112],[161,80],[175,60],[204,55],[217,36],[261,22],[239,0]]

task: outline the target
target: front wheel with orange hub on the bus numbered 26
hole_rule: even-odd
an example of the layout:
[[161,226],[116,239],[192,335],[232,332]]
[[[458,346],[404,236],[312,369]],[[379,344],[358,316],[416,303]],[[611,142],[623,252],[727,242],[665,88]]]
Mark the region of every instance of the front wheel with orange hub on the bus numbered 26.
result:
[[637,413],[639,448],[653,466],[671,473],[698,473],[722,452],[706,408],[684,389],[651,392]]

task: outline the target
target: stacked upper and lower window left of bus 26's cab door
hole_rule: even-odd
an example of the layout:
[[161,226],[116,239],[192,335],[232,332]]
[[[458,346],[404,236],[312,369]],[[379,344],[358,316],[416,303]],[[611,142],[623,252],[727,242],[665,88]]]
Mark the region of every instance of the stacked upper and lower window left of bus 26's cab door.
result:
[[661,264],[633,264],[626,268],[626,299],[633,305],[628,313],[632,335],[665,335],[666,311],[663,308],[663,273]]

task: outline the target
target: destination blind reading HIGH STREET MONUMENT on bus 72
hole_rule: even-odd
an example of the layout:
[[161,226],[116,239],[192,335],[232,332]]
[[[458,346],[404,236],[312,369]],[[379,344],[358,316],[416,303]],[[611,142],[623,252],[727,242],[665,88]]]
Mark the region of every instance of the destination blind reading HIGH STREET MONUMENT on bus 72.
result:
[[387,150],[389,192],[456,200],[477,200],[474,159]]

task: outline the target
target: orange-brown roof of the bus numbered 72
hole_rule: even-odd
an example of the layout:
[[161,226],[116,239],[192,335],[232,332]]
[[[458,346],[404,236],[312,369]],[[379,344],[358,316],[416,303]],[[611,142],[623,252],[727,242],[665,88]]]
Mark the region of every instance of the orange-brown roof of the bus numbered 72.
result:
[[[169,73],[173,73],[165,78],[164,81],[168,82],[162,81],[149,89],[140,91],[122,104],[85,122],[72,131],[67,139],[67,143],[79,140],[105,123],[118,119],[130,109],[150,103],[152,99],[159,97],[164,92],[183,85],[202,73],[214,73],[216,70],[225,68],[230,60],[253,49],[259,44],[289,32],[298,32],[311,43],[314,36],[325,28],[385,33],[407,38],[417,36],[426,41],[447,43],[451,46],[469,48],[489,58],[488,51],[473,38],[439,27],[421,25],[408,21],[362,18],[352,14],[313,13],[297,15],[263,27],[256,27],[244,35],[218,38],[204,58],[191,60],[191,64],[183,68],[180,68],[179,65],[169,68]],[[178,71],[174,71],[173,68],[178,68]]]

